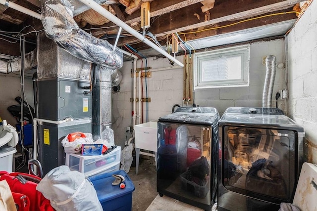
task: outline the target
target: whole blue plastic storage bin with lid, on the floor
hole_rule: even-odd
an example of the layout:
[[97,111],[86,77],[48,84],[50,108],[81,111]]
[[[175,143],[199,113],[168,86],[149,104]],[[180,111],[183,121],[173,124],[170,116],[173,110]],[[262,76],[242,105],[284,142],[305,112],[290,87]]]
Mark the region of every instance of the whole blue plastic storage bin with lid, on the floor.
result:
[[[112,182],[115,180],[112,174],[124,176],[125,188],[121,189],[119,185],[112,185]],[[94,184],[98,199],[103,206],[104,211],[132,210],[132,192],[134,191],[134,184],[124,170],[116,170],[90,176],[89,179]]]

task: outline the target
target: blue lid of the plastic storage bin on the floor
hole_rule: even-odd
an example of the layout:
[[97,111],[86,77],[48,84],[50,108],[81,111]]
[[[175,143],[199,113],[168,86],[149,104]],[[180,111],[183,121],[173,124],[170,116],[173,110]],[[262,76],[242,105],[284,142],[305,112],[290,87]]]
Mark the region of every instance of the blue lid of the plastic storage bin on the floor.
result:
[[[112,182],[115,180],[112,174],[120,174],[124,176],[125,188],[121,189],[119,185],[112,185]],[[90,176],[88,178],[94,184],[100,203],[129,194],[135,189],[132,180],[124,170],[111,171],[104,174]]]

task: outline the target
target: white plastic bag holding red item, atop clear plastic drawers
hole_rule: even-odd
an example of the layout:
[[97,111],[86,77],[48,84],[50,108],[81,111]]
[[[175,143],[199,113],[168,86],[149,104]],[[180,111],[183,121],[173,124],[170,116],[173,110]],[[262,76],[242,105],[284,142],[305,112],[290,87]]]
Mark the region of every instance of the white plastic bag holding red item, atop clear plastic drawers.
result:
[[61,143],[64,147],[65,153],[67,153],[67,154],[80,153],[81,145],[83,143],[93,143],[94,142],[93,135],[91,133],[84,133],[84,134],[86,135],[86,137],[77,138],[74,141],[69,141],[68,135],[66,135],[65,138],[63,138],[63,140],[61,140]]

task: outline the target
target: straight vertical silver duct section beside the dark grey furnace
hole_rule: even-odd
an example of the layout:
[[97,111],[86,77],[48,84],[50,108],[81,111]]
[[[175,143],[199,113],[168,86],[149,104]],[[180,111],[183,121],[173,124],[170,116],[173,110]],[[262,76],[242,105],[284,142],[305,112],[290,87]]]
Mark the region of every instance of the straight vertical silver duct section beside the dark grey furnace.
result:
[[103,65],[95,67],[96,85],[92,96],[92,133],[94,140],[111,125],[111,71]]

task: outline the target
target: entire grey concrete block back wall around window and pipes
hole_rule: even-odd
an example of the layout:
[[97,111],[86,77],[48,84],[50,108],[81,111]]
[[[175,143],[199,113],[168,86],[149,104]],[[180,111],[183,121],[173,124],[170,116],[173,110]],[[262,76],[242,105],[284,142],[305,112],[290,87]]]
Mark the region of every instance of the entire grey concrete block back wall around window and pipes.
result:
[[[233,106],[261,107],[266,72],[263,58],[271,54],[276,56],[277,64],[285,63],[284,39],[251,44],[249,86],[197,89],[194,93],[195,103],[199,106],[215,107],[220,115],[226,108]],[[183,56],[178,56],[176,59],[183,61]],[[152,69],[170,67],[167,59],[156,57],[148,58],[147,65]],[[144,66],[145,61],[143,62]],[[114,130],[115,142],[120,146],[124,146],[126,139],[125,127],[132,125],[132,103],[130,102],[130,98],[132,98],[132,68],[132,61],[124,62],[120,69],[123,74],[120,91],[112,94],[112,129]],[[141,68],[141,61],[139,60],[137,68]],[[151,70],[149,71],[151,72]],[[182,105],[183,79],[183,68],[152,72],[152,77],[147,79],[148,97],[151,97],[151,102],[148,103],[148,121],[158,120],[159,117],[171,113],[174,104]],[[145,80],[143,80],[143,83],[145,83]],[[275,93],[284,86],[285,68],[277,68],[273,99],[275,99]],[[143,91],[144,97],[146,97],[145,88]],[[186,106],[186,103],[184,105]],[[284,100],[279,100],[279,107],[282,105],[284,105]],[[275,107],[275,100],[272,100],[272,107]],[[284,110],[285,107],[282,109]],[[146,103],[143,103],[143,111],[146,114]],[[145,116],[143,119],[146,122]],[[129,137],[128,134],[127,139]]]

